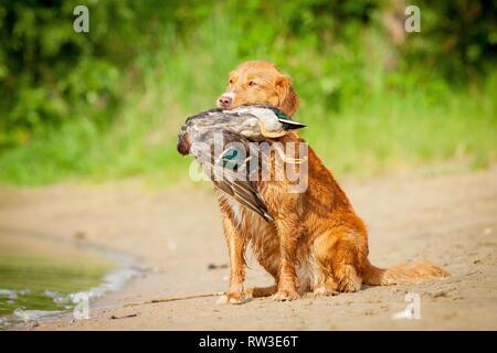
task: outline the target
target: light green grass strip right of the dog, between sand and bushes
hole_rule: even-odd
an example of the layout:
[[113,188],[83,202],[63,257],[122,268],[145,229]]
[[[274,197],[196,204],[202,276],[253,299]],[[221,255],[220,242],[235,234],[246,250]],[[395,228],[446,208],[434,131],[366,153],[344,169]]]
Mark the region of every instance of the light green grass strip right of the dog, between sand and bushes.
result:
[[486,94],[452,93],[436,106],[415,95],[381,100],[388,104],[317,124],[309,119],[304,136],[339,174],[367,178],[452,160],[470,169],[495,162],[497,107]]

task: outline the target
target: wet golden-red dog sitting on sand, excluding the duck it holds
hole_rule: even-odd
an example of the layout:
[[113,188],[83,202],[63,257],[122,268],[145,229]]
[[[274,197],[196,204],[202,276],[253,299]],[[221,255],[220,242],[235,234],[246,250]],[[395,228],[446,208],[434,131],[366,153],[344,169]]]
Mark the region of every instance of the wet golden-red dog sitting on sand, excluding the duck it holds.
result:
[[[225,109],[243,104],[269,104],[293,116],[299,99],[290,78],[274,64],[253,61],[230,74],[228,89],[218,99]],[[296,132],[279,141],[305,143]],[[246,295],[293,300],[309,290],[334,295],[357,291],[361,284],[392,285],[448,275],[426,261],[387,269],[372,266],[363,222],[310,147],[307,190],[287,193],[286,186],[287,181],[258,182],[274,223],[218,194],[231,266],[230,285],[222,301],[240,303]],[[244,253],[248,244],[258,263],[274,277],[274,286],[244,290]]]

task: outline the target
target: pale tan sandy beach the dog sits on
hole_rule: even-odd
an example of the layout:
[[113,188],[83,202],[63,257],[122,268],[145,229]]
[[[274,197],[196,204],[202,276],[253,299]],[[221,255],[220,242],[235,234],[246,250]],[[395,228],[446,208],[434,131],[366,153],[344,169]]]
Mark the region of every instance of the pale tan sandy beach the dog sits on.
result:
[[[70,314],[22,330],[496,330],[497,165],[484,171],[402,174],[343,188],[366,221],[370,258],[388,266],[427,259],[443,280],[367,287],[356,293],[293,302],[271,298],[219,306],[228,255],[208,185],[149,190],[135,182],[0,189],[0,229],[96,244],[133,256],[144,269],[120,291],[91,304],[88,320]],[[247,286],[271,278],[248,256]],[[406,293],[420,319],[393,319]]]

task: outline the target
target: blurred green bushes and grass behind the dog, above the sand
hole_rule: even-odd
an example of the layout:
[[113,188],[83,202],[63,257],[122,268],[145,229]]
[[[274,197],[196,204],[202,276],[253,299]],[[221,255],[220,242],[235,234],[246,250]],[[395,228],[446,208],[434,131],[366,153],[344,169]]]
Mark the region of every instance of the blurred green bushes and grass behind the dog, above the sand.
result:
[[[89,9],[75,33],[73,9]],[[406,6],[421,33],[406,33]],[[339,175],[497,157],[497,1],[0,1],[0,182],[178,182],[184,118],[241,62],[294,79]]]

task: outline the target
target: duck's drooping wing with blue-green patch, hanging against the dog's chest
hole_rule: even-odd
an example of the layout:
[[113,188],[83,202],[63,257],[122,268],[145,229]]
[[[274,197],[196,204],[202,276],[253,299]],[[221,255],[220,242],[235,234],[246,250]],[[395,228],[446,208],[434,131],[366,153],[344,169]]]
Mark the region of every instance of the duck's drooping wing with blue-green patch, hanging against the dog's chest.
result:
[[[216,156],[215,148],[213,148],[213,132],[212,130],[203,135],[202,151],[192,147],[192,154],[197,161],[202,165],[203,171],[219,191],[256,212],[267,222],[273,222],[274,218],[267,212],[267,207],[257,191],[256,183],[251,180],[254,173],[258,173],[258,170],[251,170],[250,165],[251,153],[258,153],[258,151],[254,150],[256,147],[251,145],[243,136],[230,130],[216,130],[216,133],[222,133],[224,146],[231,142],[239,142],[239,146],[243,146],[245,150],[244,153],[239,152],[231,145],[231,147],[223,148],[222,152]],[[208,147],[209,151],[205,150]]]

